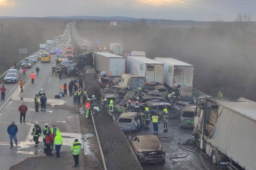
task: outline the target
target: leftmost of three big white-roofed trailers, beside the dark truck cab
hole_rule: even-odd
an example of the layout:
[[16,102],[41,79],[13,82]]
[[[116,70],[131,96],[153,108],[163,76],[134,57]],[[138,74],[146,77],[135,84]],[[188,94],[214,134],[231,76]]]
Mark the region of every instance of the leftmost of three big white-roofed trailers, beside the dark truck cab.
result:
[[125,73],[125,58],[119,55],[95,52],[94,69],[98,72],[105,71],[108,77],[121,77]]

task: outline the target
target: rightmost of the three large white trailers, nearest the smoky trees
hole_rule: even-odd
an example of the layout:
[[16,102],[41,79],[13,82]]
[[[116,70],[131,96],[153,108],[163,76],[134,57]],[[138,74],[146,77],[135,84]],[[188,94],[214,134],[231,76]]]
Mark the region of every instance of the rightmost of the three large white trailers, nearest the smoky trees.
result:
[[164,63],[164,83],[171,87],[193,87],[194,66],[174,58],[154,58],[155,61]]

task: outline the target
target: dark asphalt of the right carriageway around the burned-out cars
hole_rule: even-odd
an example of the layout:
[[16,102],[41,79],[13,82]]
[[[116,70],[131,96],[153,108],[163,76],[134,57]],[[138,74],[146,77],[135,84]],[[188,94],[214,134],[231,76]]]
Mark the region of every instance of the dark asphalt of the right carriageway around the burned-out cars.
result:
[[[72,30],[72,36],[74,37],[75,40],[80,39],[81,36],[77,33],[75,29],[75,24],[72,24],[71,26]],[[86,35],[83,35],[86,36]],[[101,39],[100,39],[101,40]],[[77,41],[77,43],[82,46],[84,42]],[[91,41],[88,41],[86,43],[88,47],[90,48]],[[115,112],[114,113],[116,120],[118,119],[120,113]],[[163,122],[159,124],[159,135],[158,136],[165,136],[165,137],[171,137],[172,131],[171,128],[178,128],[178,119],[177,118],[170,118],[168,121],[168,133],[163,133]],[[180,143],[184,143],[188,139],[193,139],[192,137],[192,130],[187,130],[184,129],[185,132],[180,136]],[[181,133],[181,130],[179,129],[174,129],[174,139],[178,141],[179,135]],[[150,123],[150,129],[143,129],[141,128],[138,133],[125,133],[125,136],[129,138],[136,137],[138,135],[153,135],[153,125]],[[195,146],[187,146],[187,145],[181,145],[181,147],[184,147],[186,149],[192,150],[196,153],[198,153],[200,156],[198,156],[195,153],[188,152],[188,156],[185,158],[180,158],[180,159],[173,159],[176,164],[173,164],[169,160],[171,157],[183,157],[186,155],[184,151],[179,149],[177,147],[177,144],[174,140],[171,142],[162,142],[162,146],[166,151],[166,160],[164,164],[142,164],[142,168],[145,170],[169,170],[169,169],[179,169],[179,170],[187,170],[187,169],[196,169],[196,170],[205,170],[206,167],[203,165],[202,160],[200,156],[202,156],[205,165],[210,169],[210,170],[217,170],[216,166],[214,166],[211,161],[208,159],[208,157],[203,154],[199,149],[197,149]]]

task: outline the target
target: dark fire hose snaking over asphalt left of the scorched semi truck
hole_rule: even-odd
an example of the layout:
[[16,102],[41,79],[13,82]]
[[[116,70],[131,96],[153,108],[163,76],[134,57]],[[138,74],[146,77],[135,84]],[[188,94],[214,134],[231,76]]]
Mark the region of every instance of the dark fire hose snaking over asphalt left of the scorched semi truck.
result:
[[[175,139],[172,137],[173,134],[174,134],[174,129],[181,129],[181,130],[182,130],[182,132],[181,132],[180,135],[179,135],[178,141],[175,140]],[[171,131],[172,131],[171,137],[160,136],[160,137],[158,137],[159,140],[160,140],[161,142],[171,142],[172,140],[174,140],[174,141],[176,142],[177,147],[180,148],[181,150],[183,150],[184,152],[186,152],[186,155],[185,155],[185,156],[181,156],[181,157],[171,157],[171,158],[169,158],[169,160],[172,162],[172,164],[177,164],[177,162],[175,162],[175,161],[172,160],[172,159],[185,158],[185,157],[187,157],[187,155],[189,155],[189,154],[187,153],[187,151],[189,151],[189,152],[193,152],[193,153],[197,154],[198,156],[200,156],[203,165],[205,166],[205,168],[206,168],[207,170],[209,170],[209,168],[207,168],[207,166],[205,165],[204,160],[203,160],[203,158],[202,158],[201,155],[199,155],[198,153],[196,153],[196,152],[194,152],[194,151],[191,151],[191,150],[189,150],[189,149],[185,149],[185,148],[182,148],[182,147],[179,146],[180,136],[183,134],[184,129],[182,129],[182,128],[171,128]],[[190,130],[186,130],[186,131],[190,131]],[[169,132],[169,133],[170,133],[170,132]],[[164,140],[163,140],[163,139],[164,139]],[[166,139],[167,139],[167,140],[166,140]]]

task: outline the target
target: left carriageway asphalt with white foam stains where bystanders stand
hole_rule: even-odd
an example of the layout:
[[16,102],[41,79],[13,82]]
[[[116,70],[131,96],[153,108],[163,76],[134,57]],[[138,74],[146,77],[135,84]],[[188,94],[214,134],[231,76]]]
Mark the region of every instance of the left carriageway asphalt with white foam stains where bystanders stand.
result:
[[[57,44],[56,47],[64,50],[63,43]],[[88,169],[102,169],[99,148],[97,148],[91,120],[85,120],[85,115],[79,115],[78,112],[83,104],[74,106],[73,98],[69,96],[61,99],[54,98],[60,92],[62,84],[68,84],[71,79],[74,79],[67,78],[59,81],[58,76],[51,75],[51,66],[55,64],[55,59],[56,55],[52,55],[50,63],[37,62],[33,68],[27,70],[27,76],[24,78],[26,83],[23,93],[20,93],[18,84],[5,84],[7,89],[5,101],[0,102],[0,128],[2,129],[0,132],[0,169],[72,169],[74,159],[70,153],[70,147],[75,139],[82,143],[83,148],[79,157],[78,169],[85,169],[85,165]],[[36,77],[34,84],[31,84],[29,73],[36,66],[40,68],[39,77]],[[35,112],[34,97],[35,94],[38,94],[40,88],[43,88],[46,93],[46,112]],[[18,111],[18,107],[23,101],[28,107],[25,124],[19,122]],[[15,146],[14,143],[14,147],[9,149],[10,140],[7,134],[7,127],[12,121],[15,121],[18,126],[18,146]],[[54,154],[52,157],[44,154],[42,137],[39,139],[39,147],[34,148],[35,143],[30,134],[36,121],[39,122],[41,129],[44,128],[45,123],[48,123],[50,128],[52,128],[52,124],[56,124],[60,129],[61,136],[63,137],[60,158],[56,158],[55,151],[52,152]],[[87,123],[86,126],[85,123]]]

